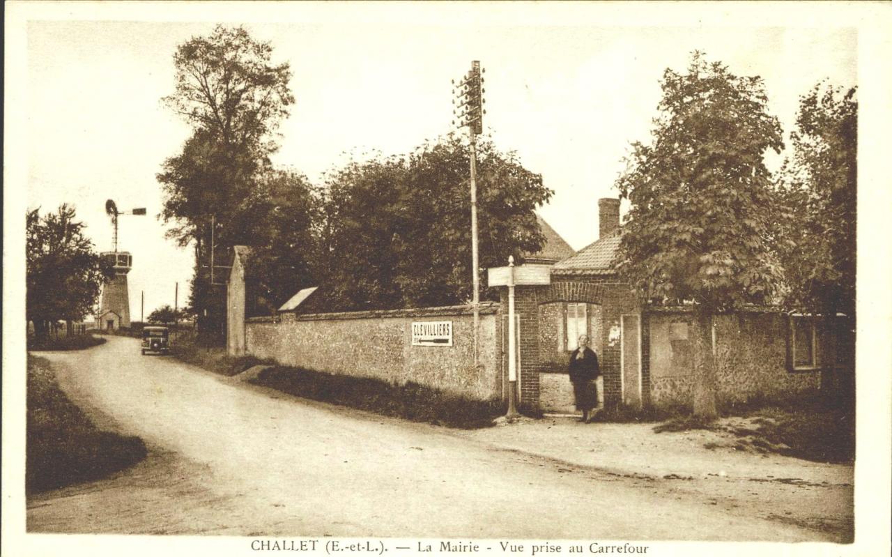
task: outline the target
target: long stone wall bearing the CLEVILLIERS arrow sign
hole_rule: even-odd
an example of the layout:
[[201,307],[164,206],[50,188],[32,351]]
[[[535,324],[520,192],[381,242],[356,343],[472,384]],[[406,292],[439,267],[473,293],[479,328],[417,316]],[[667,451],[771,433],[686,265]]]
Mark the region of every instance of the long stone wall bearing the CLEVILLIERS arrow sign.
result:
[[[500,399],[502,338],[498,303],[481,303],[480,364],[474,367],[469,306],[249,319],[247,352],[284,365],[394,384],[414,381],[477,400]],[[413,321],[451,321],[451,346],[411,345]]]

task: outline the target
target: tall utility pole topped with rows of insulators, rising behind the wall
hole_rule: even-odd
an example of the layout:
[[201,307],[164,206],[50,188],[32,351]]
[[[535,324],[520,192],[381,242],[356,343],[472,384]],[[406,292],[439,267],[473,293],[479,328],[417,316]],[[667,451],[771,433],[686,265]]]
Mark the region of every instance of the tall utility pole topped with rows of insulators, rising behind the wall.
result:
[[477,135],[483,133],[483,70],[480,62],[471,62],[471,70],[458,84],[452,80],[452,113],[458,119],[452,121],[459,127],[467,127],[471,142],[471,270],[474,273],[474,365],[480,363],[480,262],[477,251]]

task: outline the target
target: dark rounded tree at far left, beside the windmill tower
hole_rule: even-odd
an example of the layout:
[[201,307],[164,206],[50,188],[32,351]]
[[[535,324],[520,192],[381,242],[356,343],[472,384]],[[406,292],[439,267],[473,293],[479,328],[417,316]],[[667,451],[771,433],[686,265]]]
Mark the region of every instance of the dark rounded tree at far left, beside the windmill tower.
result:
[[41,216],[26,214],[26,315],[37,337],[50,322],[80,320],[89,314],[105,280],[114,276],[111,263],[93,251],[68,204]]

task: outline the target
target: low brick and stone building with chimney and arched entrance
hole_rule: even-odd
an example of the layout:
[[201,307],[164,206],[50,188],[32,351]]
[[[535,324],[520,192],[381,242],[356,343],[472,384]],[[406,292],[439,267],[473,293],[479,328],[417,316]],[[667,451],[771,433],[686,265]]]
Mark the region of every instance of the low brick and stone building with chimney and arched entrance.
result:
[[[516,287],[522,403],[551,412],[572,410],[568,356],[585,334],[599,356],[604,403],[633,408],[690,404],[692,308],[645,304],[617,276],[619,208],[618,199],[599,200],[598,240],[557,262],[549,286]],[[720,400],[816,390],[828,366],[836,367],[834,375],[843,380],[854,375],[854,327],[842,317],[834,330],[826,330],[808,316],[751,308],[717,316],[713,338]],[[837,346],[834,362],[827,362],[830,343]]]

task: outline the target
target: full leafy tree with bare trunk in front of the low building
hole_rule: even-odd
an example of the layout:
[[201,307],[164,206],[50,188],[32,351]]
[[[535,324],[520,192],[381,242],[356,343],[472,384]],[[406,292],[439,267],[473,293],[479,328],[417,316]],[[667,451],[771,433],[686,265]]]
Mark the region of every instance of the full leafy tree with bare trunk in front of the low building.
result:
[[616,187],[631,202],[618,270],[649,303],[692,303],[694,412],[713,417],[712,326],[718,312],[772,301],[780,268],[768,249],[771,175],[783,148],[762,79],[694,53],[666,70],[651,145],[633,144]]

